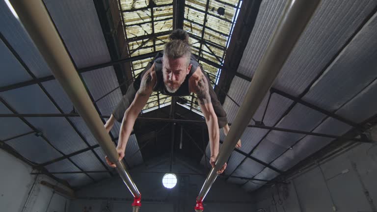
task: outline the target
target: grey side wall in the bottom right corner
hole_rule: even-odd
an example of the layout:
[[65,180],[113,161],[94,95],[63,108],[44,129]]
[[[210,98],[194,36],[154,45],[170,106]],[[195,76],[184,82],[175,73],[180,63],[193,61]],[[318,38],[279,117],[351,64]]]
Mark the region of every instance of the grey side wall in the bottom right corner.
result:
[[[377,140],[377,128],[372,131]],[[343,172],[343,173],[342,173]],[[361,144],[333,159],[306,170],[280,185],[254,192],[256,209],[266,212],[376,212],[377,143]],[[296,187],[296,189],[295,189]],[[284,207],[284,209],[283,209]]]

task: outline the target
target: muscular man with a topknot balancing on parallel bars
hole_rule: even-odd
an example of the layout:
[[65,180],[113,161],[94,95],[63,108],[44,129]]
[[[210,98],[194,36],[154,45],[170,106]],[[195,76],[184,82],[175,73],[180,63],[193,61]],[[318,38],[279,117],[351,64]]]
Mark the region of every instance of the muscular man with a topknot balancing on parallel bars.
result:
[[[153,91],[160,91],[169,96],[188,96],[193,92],[199,100],[199,106],[206,119],[210,138],[210,163],[214,167],[219,150],[219,127],[223,128],[225,134],[229,132],[226,113],[217,100],[210,80],[191,54],[188,33],[177,29],[170,34],[169,39],[163,53],[158,53],[153,63],[150,62],[129,86],[122,101],[105,124],[105,128],[109,132],[115,119],[122,123],[116,148],[121,160],[135,120]],[[237,143],[237,147],[241,147],[241,141]],[[108,158],[106,160],[111,167],[115,167]],[[225,168],[226,163],[217,170],[217,174],[221,174]]]

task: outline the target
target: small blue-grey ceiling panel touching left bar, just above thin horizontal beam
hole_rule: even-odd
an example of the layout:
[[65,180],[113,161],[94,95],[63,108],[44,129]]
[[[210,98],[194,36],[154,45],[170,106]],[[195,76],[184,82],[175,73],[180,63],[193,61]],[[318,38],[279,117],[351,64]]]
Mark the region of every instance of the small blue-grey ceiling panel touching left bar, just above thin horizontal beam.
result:
[[70,113],[73,110],[71,100],[56,79],[42,82],[42,85],[64,113]]

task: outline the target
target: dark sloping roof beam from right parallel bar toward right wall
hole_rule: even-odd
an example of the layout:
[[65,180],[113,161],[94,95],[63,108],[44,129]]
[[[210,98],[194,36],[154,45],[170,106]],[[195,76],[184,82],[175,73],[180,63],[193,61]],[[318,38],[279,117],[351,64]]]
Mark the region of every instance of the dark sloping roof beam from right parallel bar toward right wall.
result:
[[311,109],[317,110],[317,111],[319,111],[319,112],[321,112],[321,113],[323,113],[323,114],[325,114],[327,116],[330,116],[331,118],[334,118],[334,119],[336,119],[338,121],[346,123],[346,124],[348,124],[348,125],[350,125],[352,127],[356,127],[356,128],[362,129],[362,127],[360,125],[358,125],[357,123],[354,123],[354,122],[352,122],[352,121],[350,121],[350,120],[348,120],[346,118],[343,118],[340,115],[337,115],[335,113],[329,112],[329,111],[327,111],[327,110],[325,110],[325,109],[323,109],[323,108],[321,108],[319,106],[315,106],[315,105],[310,104],[310,103],[308,103],[306,101],[303,101],[301,98],[292,96],[292,95],[287,94],[284,91],[278,90],[276,88],[271,88],[270,90],[271,90],[272,93],[276,93],[276,94],[278,94],[280,96],[283,96],[285,98],[293,100],[293,101],[295,101],[295,102],[297,102],[297,103],[299,103],[301,105],[304,105],[304,106],[307,106],[307,107],[309,107]]

